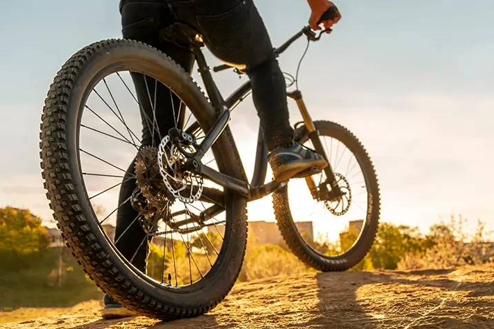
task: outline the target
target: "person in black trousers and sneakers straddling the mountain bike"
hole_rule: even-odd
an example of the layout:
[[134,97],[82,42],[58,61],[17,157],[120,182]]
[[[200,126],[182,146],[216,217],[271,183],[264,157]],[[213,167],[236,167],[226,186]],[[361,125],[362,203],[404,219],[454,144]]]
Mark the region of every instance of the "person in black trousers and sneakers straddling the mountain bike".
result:
[[[314,30],[320,30],[317,22],[326,10],[335,5],[327,0],[307,2],[311,10],[309,25]],[[284,181],[295,175],[304,177],[304,171],[313,175],[314,170],[320,171],[328,166],[324,157],[303,148],[293,140],[285,79],[278,66],[266,26],[253,0],[120,0],[119,10],[124,38],[142,41],[161,50],[188,72],[191,72],[194,60],[190,50],[166,41],[160,34],[162,28],[176,21],[188,23],[201,32],[206,46],[219,59],[246,66],[246,74],[252,84],[254,105],[268,146],[268,160],[276,180]],[[334,12],[331,19],[322,21],[324,28],[330,28],[341,18],[337,10]],[[146,113],[141,115],[145,127],[141,144],[151,146],[153,140],[159,143],[159,138],[153,139],[151,129],[146,129],[146,115],[153,115],[148,94],[152,94],[153,98],[154,95],[157,97],[155,115],[158,129],[155,131],[161,134],[166,134],[175,126],[173,108],[179,108],[179,99],[172,97],[169,90],[162,85],[157,87],[157,92],[150,90],[155,86],[154,81],[145,83],[144,79],[146,78],[141,74],[132,74],[139,103]],[[134,174],[134,163],[131,163],[121,186],[120,205],[128,200],[136,188],[136,181],[132,179]],[[127,259],[133,257],[132,264],[145,272],[148,248],[145,243],[141,248],[139,245],[146,233],[134,221],[137,216],[138,212],[132,208],[130,201],[119,208],[115,239],[125,233],[116,243],[117,248]],[[135,255],[137,249],[139,251]],[[132,312],[108,295],[104,297],[103,303],[105,318],[132,315]]]

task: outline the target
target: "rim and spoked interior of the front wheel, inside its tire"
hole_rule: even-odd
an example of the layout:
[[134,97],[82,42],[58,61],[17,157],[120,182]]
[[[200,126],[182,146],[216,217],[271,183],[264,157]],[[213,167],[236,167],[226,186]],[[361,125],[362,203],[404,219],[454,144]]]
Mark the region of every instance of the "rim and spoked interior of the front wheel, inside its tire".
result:
[[[372,201],[369,202],[369,195],[372,196],[370,181],[368,173],[365,172],[364,161],[351,152],[346,143],[330,137],[324,130],[320,130],[319,134],[328,161],[335,172],[335,178],[342,192],[346,193],[346,197],[344,196],[339,201],[317,202],[311,197],[306,181],[294,179],[288,183],[287,188],[290,215],[295,224],[295,230],[310,250],[325,259],[345,259],[357,250],[364,238],[366,227],[370,224],[368,216],[372,213]],[[300,143],[314,149],[307,137]],[[355,169],[360,171],[355,174],[353,172]],[[318,190],[319,186],[326,181],[324,172],[313,175],[312,178]],[[352,185],[357,188],[352,188]],[[304,204],[303,209],[295,206],[295,202]],[[334,212],[333,215],[328,209],[330,206]],[[308,209],[311,210],[309,213]]]

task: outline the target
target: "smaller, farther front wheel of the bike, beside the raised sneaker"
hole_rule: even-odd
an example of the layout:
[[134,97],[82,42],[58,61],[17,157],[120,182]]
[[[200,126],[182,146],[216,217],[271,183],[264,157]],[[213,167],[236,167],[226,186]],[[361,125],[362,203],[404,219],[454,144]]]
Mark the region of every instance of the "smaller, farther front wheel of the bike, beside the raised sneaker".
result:
[[[329,219],[326,219],[327,217],[324,217],[324,221],[319,223],[319,225],[317,225],[318,223],[315,221],[322,218],[310,218],[310,221],[304,221],[304,223],[297,223],[293,219],[293,212],[290,210],[290,200],[288,198],[288,188],[290,185],[297,184],[296,188],[290,190],[290,192],[296,194],[296,199],[293,199],[292,203],[293,210],[300,210],[299,212],[303,212],[303,216],[306,217],[308,211],[317,208],[316,205],[313,209],[310,209],[310,206],[308,206],[304,200],[306,195],[301,195],[299,192],[300,190],[307,190],[307,195],[309,197],[307,197],[306,200],[309,201],[310,192],[308,192],[308,188],[303,188],[303,185],[307,186],[304,179],[290,180],[287,186],[274,192],[273,208],[281,236],[288,245],[288,248],[290,248],[302,262],[306,263],[306,265],[311,268],[323,272],[344,271],[353,268],[357,263],[362,261],[373,245],[379,223],[379,184],[375,175],[373,163],[370,161],[364,146],[362,146],[357,137],[337,123],[330,121],[315,121],[314,124],[315,128],[319,131],[319,138],[324,139],[324,137],[330,137],[336,139],[339,143],[346,146],[346,148],[350,150],[350,153],[355,156],[357,161],[351,168],[353,170],[353,168],[358,165],[362,170],[362,178],[365,183],[363,194],[366,195],[365,199],[367,201],[364,215],[365,218],[354,218],[357,220],[350,222],[350,225],[344,230],[336,232],[334,235],[335,239],[333,240],[331,240],[328,235],[324,236],[322,234],[314,238],[313,232],[316,231],[316,228],[314,228],[313,225],[319,226],[319,229],[321,227],[338,226],[338,219],[335,218],[335,221],[330,221]],[[295,134],[299,139],[299,143],[310,143],[308,131],[305,126],[298,128]],[[333,166],[333,171],[335,171],[337,175],[337,181],[339,181],[340,188],[342,188],[343,192],[346,192],[347,199],[346,201],[345,199],[342,199],[342,201],[331,202],[324,200],[324,197],[321,197],[317,201],[319,201],[319,205],[324,203],[323,208],[327,213],[322,212],[322,214],[330,215],[329,213],[332,212],[336,216],[345,215],[350,209],[352,198],[355,199],[356,197],[355,191],[352,191],[348,184],[351,177],[348,176],[348,173],[340,172],[338,168],[338,164],[341,163],[343,155],[340,154],[336,159],[332,158],[331,154],[333,153],[333,150],[327,149],[328,143],[322,141],[322,144],[323,146],[326,146],[326,155]],[[348,166],[346,167],[347,171],[350,166],[350,161],[348,161]],[[317,192],[319,192],[324,190],[324,187],[328,184],[326,183],[326,179],[324,179],[324,173],[320,175],[320,178],[317,178],[317,176],[318,175],[314,175],[313,180],[316,183]],[[355,175],[353,175],[353,177],[355,177]],[[311,199],[313,198],[314,197]],[[302,207],[300,206],[301,202],[304,202],[304,206]],[[317,215],[315,217],[319,216],[322,215]],[[307,219],[307,217],[304,219]],[[308,226],[310,226],[310,228],[308,228]],[[355,229],[355,227],[357,227],[359,232],[356,232],[357,229]],[[354,240],[353,242],[351,241],[352,239]],[[338,254],[338,252],[341,253]]]

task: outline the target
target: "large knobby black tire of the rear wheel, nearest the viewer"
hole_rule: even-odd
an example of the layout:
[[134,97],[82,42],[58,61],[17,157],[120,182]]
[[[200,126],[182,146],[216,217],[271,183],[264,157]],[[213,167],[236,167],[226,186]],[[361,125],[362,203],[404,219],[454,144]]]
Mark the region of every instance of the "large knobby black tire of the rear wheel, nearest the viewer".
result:
[[[157,283],[132,270],[103,233],[90,205],[78,148],[81,112],[88,94],[104,76],[121,70],[155,77],[170,86],[191,110],[196,109],[195,117],[204,131],[213,125],[215,111],[208,99],[190,75],[164,53],[124,39],[92,43],[66,61],[45,101],[40,156],[46,196],[72,254],[104,292],[148,317],[195,317],[217,306],[237,280],[247,241],[246,199],[225,190],[224,244],[213,267],[197,283],[179,289],[157,287]],[[229,128],[217,139],[213,154],[221,172],[246,180]]]

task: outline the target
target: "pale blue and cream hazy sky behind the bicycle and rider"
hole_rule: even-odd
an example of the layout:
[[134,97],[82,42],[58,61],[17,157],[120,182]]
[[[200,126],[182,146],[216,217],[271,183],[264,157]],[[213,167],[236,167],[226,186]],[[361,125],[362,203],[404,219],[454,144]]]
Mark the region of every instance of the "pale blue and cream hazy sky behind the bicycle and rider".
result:
[[[275,45],[308,21],[305,1],[257,6]],[[455,212],[494,230],[494,2],[337,6],[342,20],[310,46],[299,88],[313,118],[341,123],[364,143],[379,177],[382,220],[425,232]],[[43,100],[74,52],[121,37],[118,1],[7,0],[0,17],[0,206],[50,219],[39,167]],[[281,57],[282,70],[295,74],[305,46],[297,41]],[[225,95],[242,82],[228,71],[215,79]],[[290,118],[300,119],[294,106]],[[251,99],[230,126],[251,173],[258,126]],[[272,219],[269,205],[270,198],[250,204],[250,218]]]

